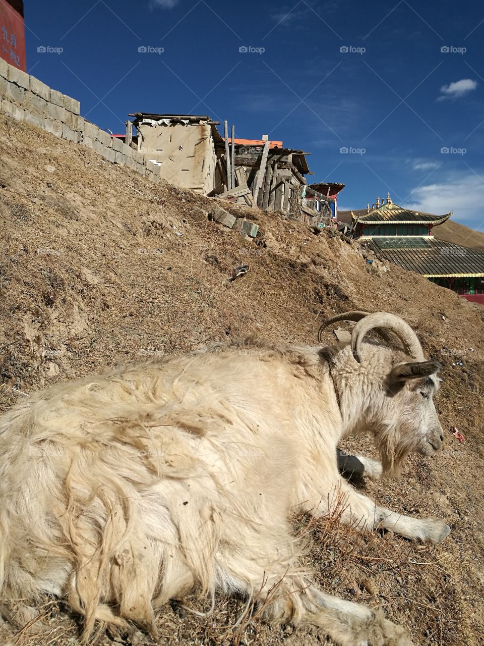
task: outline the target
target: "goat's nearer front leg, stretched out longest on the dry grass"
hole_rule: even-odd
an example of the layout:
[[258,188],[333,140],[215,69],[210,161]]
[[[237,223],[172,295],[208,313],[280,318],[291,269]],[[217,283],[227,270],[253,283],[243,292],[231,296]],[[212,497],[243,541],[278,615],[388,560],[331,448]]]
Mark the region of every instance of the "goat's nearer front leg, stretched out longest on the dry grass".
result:
[[[392,512],[367,496],[359,494],[343,478],[340,479],[335,492],[333,496],[328,497],[327,513],[338,513],[338,506],[341,506],[341,520],[345,525],[361,530],[383,527],[414,541],[430,543],[441,543],[449,536],[450,527],[444,521],[434,518],[412,518]],[[318,516],[324,514],[324,509],[323,514],[320,510],[321,505],[318,508]]]

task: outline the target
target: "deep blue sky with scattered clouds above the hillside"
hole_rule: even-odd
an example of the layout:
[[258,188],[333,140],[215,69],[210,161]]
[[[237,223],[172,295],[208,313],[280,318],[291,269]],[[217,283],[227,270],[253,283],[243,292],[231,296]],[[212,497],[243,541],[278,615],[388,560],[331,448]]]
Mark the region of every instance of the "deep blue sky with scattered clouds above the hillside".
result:
[[484,231],[481,3],[25,0],[25,21],[28,71],[99,127],[227,119],[311,152],[309,183],[346,184],[340,209],[390,191]]

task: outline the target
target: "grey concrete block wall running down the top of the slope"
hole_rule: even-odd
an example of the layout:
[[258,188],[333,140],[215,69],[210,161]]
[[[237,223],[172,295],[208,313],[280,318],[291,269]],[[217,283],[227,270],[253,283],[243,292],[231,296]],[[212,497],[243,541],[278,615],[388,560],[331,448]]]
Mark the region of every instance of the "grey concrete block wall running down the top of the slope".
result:
[[160,168],[116,137],[81,116],[81,105],[0,58],[0,114],[26,121],[54,136],[98,152],[111,163],[127,166],[152,182]]

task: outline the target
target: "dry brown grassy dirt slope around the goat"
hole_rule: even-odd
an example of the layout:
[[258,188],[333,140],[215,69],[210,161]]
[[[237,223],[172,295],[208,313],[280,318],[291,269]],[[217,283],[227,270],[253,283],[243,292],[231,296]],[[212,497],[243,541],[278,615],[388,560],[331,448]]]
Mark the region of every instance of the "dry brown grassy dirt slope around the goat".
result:
[[[207,220],[210,200],[5,118],[0,159],[2,409],[34,388],[154,351],[183,353],[253,332],[314,342],[336,312],[401,315],[443,364],[436,406],[445,449],[434,459],[412,457],[399,481],[356,486],[395,511],[445,517],[450,537],[419,546],[354,534],[338,519],[297,518],[294,530],[310,540],[307,564],[323,589],[382,606],[416,644],[484,643],[483,309],[397,266],[370,273],[355,243],[277,214],[247,211],[262,233],[259,245],[245,242]],[[247,275],[228,283],[241,262],[250,264]],[[450,434],[452,424],[465,444]],[[372,452],[367,439],[345,446]],[[173,604],[159,614],[157,643],[325,643],[257,620],[230,629],[241,612],[243,603],[224,599],[208,618]],[[62,605],[47,600],[44,614],[39,635],[14,636],[3,625],[0,644],[77,645],[78,624]],[[103,633],[99,643],[113,639]]]

